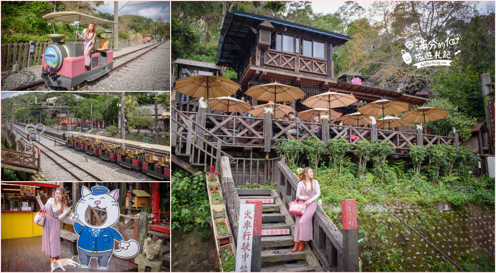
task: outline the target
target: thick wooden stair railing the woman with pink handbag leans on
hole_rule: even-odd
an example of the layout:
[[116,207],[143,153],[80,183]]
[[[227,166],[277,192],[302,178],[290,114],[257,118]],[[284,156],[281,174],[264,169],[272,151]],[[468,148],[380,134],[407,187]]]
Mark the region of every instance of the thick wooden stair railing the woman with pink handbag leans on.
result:
[[[277,163],[276,181],[279,197],[289,206],[296,199],[298,179],[286,166],[284,157]],[[313,240],[311,247],[323,269],[327,272],[343,272],[343,235],[327,217],[320,206],[317,206],[313,215]]]

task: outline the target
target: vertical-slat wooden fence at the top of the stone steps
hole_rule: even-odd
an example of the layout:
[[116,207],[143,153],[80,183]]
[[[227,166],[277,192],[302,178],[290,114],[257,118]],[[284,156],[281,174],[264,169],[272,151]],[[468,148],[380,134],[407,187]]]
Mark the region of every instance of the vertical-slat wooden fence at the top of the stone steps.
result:
[[[281,160],[281,157],[276,158],[232,158],[231,162],[231,172],[233,173],[233,180],[236,186],[244,186],[245,183],[251,185],[260,185],[265,182],[273,183],[276,182],[276,168],[277,162]],[[263,170],[260,171],[260,168]],[[261,179],[260,176],[263,175]],[[248,176],[248,179],[247,179]]]

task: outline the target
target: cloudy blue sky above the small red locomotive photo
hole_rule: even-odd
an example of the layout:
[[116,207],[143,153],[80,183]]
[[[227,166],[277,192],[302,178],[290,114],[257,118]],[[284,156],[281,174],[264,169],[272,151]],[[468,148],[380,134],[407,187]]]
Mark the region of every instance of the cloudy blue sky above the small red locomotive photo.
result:
[[[97,10],[101,12],[108,12],[110,14],[114,14],[114,1],[105,1],[107,5],[97,7]],[[145,4],[141,4],[145,3]],[[126,6],[124,6],[127,4]],[[137,4],[137,5],[130,5]],[[121,9],[121,7],[123,7]],[[171,21],[171,2],[170,1],[119,1],[119,14],[123,14],[126,11],[129,11],[131,14],[144,16],[147,18],[151,18],[154,21],[161,17],[165,19],[167,22]]]

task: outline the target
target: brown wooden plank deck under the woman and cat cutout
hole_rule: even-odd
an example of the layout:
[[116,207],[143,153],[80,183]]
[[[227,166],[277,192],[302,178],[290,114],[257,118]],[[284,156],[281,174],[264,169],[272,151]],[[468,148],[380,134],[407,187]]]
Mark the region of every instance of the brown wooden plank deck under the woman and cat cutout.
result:
[[[26,237],[17,239],[1,240],[1,272],[50,272],[50,257],[41,251],[42,236]],[[69,254],[69,243],[61,242],[61,255],[59,259],[71,258]],[[73,259],[79,263],[77,255]],[[79,267],[67,266],[66,272],[98,272],[97,262],[91,259],[91,270],[81,270]],[[112,256],[110,258],[109,272],[137,272],[138,266],[125,262]],[[55,272],[63,272],[62,269],[56,269]]]

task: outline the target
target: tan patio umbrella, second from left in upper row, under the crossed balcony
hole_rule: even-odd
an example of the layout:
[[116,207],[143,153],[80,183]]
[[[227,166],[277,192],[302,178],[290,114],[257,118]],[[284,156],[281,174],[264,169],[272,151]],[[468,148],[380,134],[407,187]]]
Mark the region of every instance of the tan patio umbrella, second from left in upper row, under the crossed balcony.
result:
[[[298,87],[284,85],[275,82],[275,83],[251,86],[245,92],[245,95],[248,95],[257,100],[280,102],[280,101],[297,100],[305,96],[305,93]],[[273,112],[274,112],[273,117],[275,117],[275,113],[277,112],[277,109],[274,109]]]

